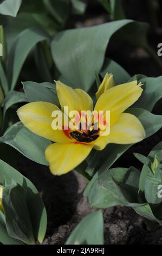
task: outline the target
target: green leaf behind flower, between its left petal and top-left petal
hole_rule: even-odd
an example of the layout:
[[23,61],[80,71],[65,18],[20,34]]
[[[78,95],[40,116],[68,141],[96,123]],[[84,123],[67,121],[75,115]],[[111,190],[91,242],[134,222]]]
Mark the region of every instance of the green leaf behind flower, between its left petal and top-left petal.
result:
[[46,101],[59,106],[54,83],[22,82],[22,84],[29,102]]

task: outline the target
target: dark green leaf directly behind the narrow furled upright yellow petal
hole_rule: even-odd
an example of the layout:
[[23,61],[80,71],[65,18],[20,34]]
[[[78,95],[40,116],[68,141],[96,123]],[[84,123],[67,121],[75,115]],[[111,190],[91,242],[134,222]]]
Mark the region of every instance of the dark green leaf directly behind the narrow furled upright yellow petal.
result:
[[118,63],[114,62],[112,59],[105,58],[105,62],[100,72],[102,78],[107,72],[113,74],[115,85],[126,83],[130,78],[127,71],[125,71]]

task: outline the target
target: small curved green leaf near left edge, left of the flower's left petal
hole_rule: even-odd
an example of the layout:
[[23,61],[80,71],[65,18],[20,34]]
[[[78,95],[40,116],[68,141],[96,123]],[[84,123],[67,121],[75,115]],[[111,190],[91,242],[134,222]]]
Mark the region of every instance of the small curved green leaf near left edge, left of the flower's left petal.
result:
[[16,92],[15,90],[11,90],[8,92],[7,96],[4,99],[3,103],[3,116],[5,117],[5,114],[7,110],[14,104],[20,103],[20,102],[28,102],[27,97],[24,93]]

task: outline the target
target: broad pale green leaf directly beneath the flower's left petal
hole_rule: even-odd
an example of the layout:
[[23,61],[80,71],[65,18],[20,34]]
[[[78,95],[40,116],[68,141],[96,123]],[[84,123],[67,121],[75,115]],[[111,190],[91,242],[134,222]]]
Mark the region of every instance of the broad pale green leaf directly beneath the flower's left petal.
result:
[[20,122],[10,126],[4,135],[0,137],[0,142],[10,145],[37,163],[48,165],[44,151],[51,142],[48,139],[35,135],[35,133],[28,130]]

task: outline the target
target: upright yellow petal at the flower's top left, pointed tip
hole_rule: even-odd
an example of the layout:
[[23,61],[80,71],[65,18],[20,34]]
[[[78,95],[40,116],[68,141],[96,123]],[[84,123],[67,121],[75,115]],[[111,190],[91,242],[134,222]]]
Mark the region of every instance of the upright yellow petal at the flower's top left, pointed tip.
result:
[[56,82],[56,90],[62,109],[68,106],[69,112],[93,110],[93,101],[84,90],[73,89],[60,81]]

